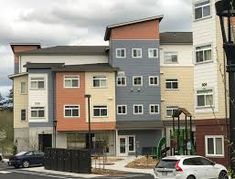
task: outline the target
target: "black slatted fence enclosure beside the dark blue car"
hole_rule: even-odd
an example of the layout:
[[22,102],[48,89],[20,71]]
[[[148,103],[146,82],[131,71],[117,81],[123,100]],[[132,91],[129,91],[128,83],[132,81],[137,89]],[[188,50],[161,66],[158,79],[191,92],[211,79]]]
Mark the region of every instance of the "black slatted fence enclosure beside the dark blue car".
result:
[[47,148],[44,166],[47,170],[91,173],[91,154],[89,150]]

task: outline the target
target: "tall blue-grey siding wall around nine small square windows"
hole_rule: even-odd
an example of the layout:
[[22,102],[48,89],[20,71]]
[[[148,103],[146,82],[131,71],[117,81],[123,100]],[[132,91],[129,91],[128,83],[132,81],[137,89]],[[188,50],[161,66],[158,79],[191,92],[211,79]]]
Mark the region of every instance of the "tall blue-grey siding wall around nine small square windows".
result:
[[[148,48],[158,48],[158,40],[111,40],[112,66],[125,72],[126,86],[116,86],[116,104],[127,105],[127,115],[117,115],[118,121],[160,120],[160,114],[149,114],[149,104],[160,105],[160,86],[149,86],[149,76],[159,76],[159,58],[148,58]],[[116,58],[115,49],[126,48],[126,58]],[[132,48],[142,48],[142,58],[131,57]],[[132,85],[133,76],[143,76],[143,86]],[[133,115],[133,104],[143,104],[144,114]]]

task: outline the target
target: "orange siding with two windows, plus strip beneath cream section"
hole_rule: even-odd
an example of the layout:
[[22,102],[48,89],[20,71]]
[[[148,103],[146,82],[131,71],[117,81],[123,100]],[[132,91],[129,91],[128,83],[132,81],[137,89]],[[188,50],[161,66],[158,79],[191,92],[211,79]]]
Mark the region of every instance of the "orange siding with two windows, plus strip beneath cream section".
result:
[[[64,75],[79,75],[80,88],[64,88]],[[62,131],[87,131],[86,103],[85,103],[85,73],[56,73],[56,119],[57,130]],[[79,118],[64,118],[64,105],[80,105]],[[92,122],[91,130],[114,130],[115,122]]]

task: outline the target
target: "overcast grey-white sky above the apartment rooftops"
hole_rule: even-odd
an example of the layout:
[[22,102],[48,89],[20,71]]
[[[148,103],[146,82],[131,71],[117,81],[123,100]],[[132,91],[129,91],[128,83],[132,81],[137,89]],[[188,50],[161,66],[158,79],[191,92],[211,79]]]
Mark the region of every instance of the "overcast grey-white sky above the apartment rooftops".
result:
[[107,25],[160,14],[161,32],[191,31],[191,4],[191,0],[0,0],[0,92],[11,86],[11,42],[37,42],[42,47],[104,45]]

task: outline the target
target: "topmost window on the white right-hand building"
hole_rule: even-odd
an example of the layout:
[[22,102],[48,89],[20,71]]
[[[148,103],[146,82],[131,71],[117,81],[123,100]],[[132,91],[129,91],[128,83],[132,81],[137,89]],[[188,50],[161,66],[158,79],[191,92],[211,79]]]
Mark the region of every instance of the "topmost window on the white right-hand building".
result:
[[202,19],[204,17],[210,16],[210,0],[204,2],[196,3],[194,5],[194,17],[195,20]]

